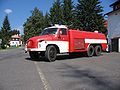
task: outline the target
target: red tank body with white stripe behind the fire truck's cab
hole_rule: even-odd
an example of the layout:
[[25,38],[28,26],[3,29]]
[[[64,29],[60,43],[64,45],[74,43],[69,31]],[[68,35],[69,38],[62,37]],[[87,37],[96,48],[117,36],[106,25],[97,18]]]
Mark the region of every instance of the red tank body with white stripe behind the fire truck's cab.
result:
[[102,46],[103,51],[105,51],[107,48],[107,41],[104,34],[70,30],[69,35],[70,52],[87,51],[87,48],[91,44],[100,44]]

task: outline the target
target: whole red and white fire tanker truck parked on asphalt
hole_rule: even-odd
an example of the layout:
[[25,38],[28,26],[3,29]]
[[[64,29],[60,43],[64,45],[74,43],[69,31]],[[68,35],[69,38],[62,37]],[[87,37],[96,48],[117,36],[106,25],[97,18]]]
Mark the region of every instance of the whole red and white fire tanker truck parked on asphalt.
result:
[[60,53],[84,52],[87,56],[99,56],[107,48],[106,37],[102,33],[68,29],[64,25],[45,28],[40,36],[30,38],[26,52],[31,59],[44,56],[48,61],[55,61]]

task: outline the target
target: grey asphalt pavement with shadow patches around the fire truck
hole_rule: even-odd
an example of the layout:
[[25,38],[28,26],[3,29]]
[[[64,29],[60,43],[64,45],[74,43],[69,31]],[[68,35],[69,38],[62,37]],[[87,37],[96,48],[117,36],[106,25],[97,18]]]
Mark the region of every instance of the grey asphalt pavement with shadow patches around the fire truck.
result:
[[0,51],[0,90],[120,90],[120,53],[31,60],[22,48]]

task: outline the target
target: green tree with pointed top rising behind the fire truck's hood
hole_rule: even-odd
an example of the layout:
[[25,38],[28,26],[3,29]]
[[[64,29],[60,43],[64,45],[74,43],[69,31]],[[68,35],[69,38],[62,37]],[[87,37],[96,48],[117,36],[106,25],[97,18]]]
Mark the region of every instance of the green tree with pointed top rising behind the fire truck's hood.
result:
[[44,28],[44,17],[37,7],[34,8],[32,15],[27,19],[23,27],[25,41],[30,37],[37,36],[41,33]]

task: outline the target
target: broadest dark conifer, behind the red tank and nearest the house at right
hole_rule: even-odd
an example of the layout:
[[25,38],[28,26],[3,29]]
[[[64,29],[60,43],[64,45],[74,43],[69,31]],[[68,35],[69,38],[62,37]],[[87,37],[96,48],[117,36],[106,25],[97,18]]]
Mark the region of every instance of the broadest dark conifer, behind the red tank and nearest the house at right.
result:
[[76,26],[86,31],[105,32],[103,8],[99,0],[78,0]]

